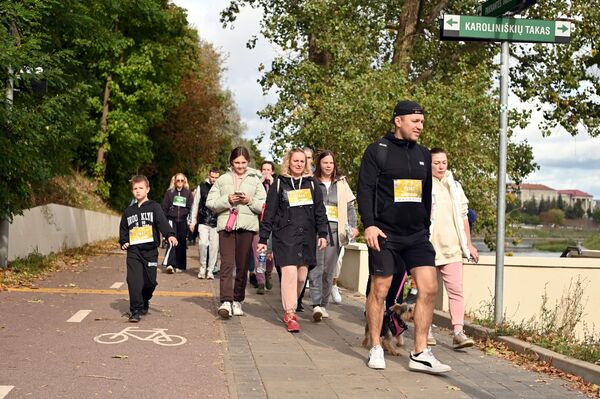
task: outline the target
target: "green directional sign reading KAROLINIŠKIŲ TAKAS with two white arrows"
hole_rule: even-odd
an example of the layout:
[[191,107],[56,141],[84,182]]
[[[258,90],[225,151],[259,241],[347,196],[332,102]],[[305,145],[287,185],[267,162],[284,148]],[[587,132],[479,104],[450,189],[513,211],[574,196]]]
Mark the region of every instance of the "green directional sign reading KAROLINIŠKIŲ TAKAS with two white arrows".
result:
[[444,15],[440,22],[442,40],[527,43],[568,43],[571,40],[571,23],[567,21]]

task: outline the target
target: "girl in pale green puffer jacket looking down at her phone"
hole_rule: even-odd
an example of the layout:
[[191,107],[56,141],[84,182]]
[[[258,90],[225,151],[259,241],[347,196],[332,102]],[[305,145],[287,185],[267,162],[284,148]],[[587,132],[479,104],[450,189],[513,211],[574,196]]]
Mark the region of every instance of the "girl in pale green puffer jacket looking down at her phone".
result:
[[[266,192],[261,174],[249,168],[250,153],[237,147],[229,156],[230,170],[215,182],[208,193],[206,206],[217,215],[221,253],[219,316],[242,316],[248,280],[248,260],[252,239],[258,232]],[[235,267],[235,282],[233,268]]]

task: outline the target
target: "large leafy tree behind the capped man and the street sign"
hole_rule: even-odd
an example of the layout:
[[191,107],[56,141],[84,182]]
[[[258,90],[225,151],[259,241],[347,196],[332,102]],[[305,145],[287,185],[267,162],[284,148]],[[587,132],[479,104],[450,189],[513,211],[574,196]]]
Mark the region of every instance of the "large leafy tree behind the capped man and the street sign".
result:
[[[545,14],[581,15],[584,21],[578,24],[573,43],[556,50],[559,53],[536,47],[532,50],[535,57],[527,58],[523,57],[529,55],[527,46],[513,46],[515,59],[518,56],[521,62],[519,68],[513,68],[519,69],[512,72],[513,81],[524,101],[546,104],[551,100],[550,95],[536,96],[534,86],[524,79],[536,79],[536,87],[552,84],[540,73],[545,70],[540,65],[550,59],[557,68],[553,77],[569,76],[568,87],[591,80],[594,83],[586,86],[590,87],[588,94],[598,93],[597,76],[588,76],[579,68],[582,62],[594,62],[589,51],[583,50],[598,42],[590,39],[598,35],[593,29],[598,10],[583,10],[587,4],[579,0],[551,3],[544,5]],[[497,66],[493,60],[498,46],[440,42],[437,38],[442,13],[475,14],[477,5],[475,0],[232,0],[222,12],[222,20],[226,25],[233,23],[244,6],[261,8],[262,34],[284,54],[265,68],[261,80],[265,91],[276,87],[279,93],[278,101],[261,112],[272,123],[275,156],[289,145],[327,148],[338,155],[341,168],[353,180],[366,145],[390,129],[395,101],[413,98],[427,112],[422,142],[444,147],[457,178],[476,182],[465,184],[465,191],[482,227],[491,233],[498,130]],[[535,6],[529,12],[540,13],[541,8]],[[249,41],[250,47],[255,40]],[[557,54],[570,61],[560,65],[552,58]],[[588,112],[577,114],[576,123],[584,124],[591,134],[598,133],[597,112],[592,112],[597,97],[576,97],[568,90],[560,96],[578,102],[580,110],[587,107]],[[511,127],[526,125],[527,117],[513,111]],[[548,117],[555,123],[567,122],[559,113]],[[519,183],[536,167],[531,148],[526,142],[510,141],[508,154],[509,175]]]

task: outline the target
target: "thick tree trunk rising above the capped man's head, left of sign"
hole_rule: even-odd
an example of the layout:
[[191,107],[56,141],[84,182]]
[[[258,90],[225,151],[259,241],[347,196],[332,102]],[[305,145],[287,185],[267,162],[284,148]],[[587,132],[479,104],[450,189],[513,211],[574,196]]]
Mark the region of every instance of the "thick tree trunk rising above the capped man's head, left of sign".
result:
[[394,42],[392,64],[398,65],[406,75],[410,69],[410,55],[417,33],[422,0],[405,0],[398,20],[398,34]]

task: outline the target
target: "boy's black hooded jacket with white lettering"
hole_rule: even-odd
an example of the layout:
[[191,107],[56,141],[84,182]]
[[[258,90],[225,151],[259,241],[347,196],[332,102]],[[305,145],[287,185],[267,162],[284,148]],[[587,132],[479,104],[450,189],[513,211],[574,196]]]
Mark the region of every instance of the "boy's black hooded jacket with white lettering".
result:
[[152,236],[153,242],[147,242],[144,244],[137,244],[132,247],[136,247],[140,251],[148,251],[158,248],[160,245],[160,233],[165,237],[171,237],[175,235],[175,232],[169,225],[169,221],[165,217],[165,214],[158,205],[157,202],[152,200],[145,201],[142,206],[138,207],[137,202],[131,206],[128,206],[123,213],[121,218],[121,224],[119,225],[119,244],[129,242],[129,232],[134,227],[141,227],[147,224],[152,225]]

